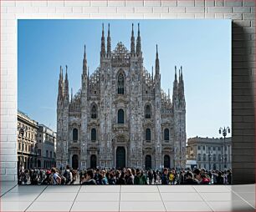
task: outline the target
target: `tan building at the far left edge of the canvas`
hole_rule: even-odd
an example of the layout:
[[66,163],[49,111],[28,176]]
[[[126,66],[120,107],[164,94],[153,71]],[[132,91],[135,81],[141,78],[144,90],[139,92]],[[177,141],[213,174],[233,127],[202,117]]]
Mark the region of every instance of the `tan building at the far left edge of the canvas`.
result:
[[18,169],[36,166],[36,140],[38,123],[28,115],[18,111]]

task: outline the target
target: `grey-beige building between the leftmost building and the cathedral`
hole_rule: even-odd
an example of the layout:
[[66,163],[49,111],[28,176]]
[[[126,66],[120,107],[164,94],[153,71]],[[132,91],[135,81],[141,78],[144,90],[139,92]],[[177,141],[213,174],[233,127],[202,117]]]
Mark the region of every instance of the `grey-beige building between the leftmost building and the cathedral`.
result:
[[44,124],[38,124],[38,168],[51,168],[56,162],[56,133]]

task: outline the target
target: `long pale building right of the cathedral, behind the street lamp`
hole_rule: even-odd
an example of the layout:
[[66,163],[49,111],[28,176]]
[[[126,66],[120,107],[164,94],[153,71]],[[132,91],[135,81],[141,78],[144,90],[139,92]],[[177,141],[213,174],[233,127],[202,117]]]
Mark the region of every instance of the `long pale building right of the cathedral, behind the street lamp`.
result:
[[197,168],[230,169],[232,166],[231,137],[187,139],[187,160],[197,160]]

